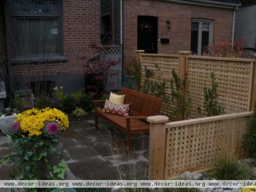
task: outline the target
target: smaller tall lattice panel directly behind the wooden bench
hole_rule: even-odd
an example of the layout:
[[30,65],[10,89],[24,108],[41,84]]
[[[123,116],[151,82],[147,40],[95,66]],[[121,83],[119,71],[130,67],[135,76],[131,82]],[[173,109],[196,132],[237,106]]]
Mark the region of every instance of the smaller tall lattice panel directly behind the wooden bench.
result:
[[[166,94],[171,95],[170,80],[172,79],[172,69],[178,73],[178,55],[164,55],[164,54],[141,54],[140,62],[142,64],[142,82],[141,87],[145,85],[145,69],[152,70],[154,76],[150,78],[151,81],[162,83],[166,82]],[[169,107],[167,107],[169,106]],[[160,113],[170,115],[170,106],[174,106],[172,102],[163,103]]]

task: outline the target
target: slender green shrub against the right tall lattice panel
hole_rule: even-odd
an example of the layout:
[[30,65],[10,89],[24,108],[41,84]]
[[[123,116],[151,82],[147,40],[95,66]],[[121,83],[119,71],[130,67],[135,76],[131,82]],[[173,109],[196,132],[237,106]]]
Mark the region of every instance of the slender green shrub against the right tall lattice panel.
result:
[[[215,82],[215,74],[211,73],[212,86],[204,87],[204,108],[206,116],[216,116],[224,114],[223,106],[218,103],[218,84]],[[203,116],[202,110],[198,107],[198,113]]]

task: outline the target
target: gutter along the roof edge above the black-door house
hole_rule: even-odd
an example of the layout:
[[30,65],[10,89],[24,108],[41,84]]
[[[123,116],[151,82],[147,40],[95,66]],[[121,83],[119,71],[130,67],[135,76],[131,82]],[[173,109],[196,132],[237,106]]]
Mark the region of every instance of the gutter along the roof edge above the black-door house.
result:
[[218,1],[211,0],[162,0],[172,3],[181,3],[187,5],[196,5],[196,6],[209,6],[209,7],[218,7],[218,8],[226,8],[226,9],[234,9],[235,7],[240,7],[241,4],[237,3],[224,3]]

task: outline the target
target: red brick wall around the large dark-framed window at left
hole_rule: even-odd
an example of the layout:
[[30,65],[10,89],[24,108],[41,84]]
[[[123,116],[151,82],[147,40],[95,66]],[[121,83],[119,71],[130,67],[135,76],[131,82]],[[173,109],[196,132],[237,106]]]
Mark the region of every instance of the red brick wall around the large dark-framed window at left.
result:
[[[11,36],[10,13],[8,7],[9,39]],[[3,6],[0,5],[0,26],[3,26]],[[89,58],[94,55],[95,49],[89,48],[90,42],[100,43],[100,2],[99,0],[63,0],[63,47],[64,55],[68,61],[47,63],[48,74],[81,73],[88,71],[87,59],[81,60],[80,56]],[[3,38],[2,38],[3,36]],[[12,54],[12,41],[10,51]],[[6,57],[4,29],[0,27],[0,55]],[[12,76],[24,74],[40,75],[45,69],[45,63],[12,64]]]

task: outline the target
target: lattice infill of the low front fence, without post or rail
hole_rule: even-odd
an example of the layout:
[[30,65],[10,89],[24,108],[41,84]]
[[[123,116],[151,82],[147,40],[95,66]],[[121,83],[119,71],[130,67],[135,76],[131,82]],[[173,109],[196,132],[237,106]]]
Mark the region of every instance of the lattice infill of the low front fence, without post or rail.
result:
[[242,116],[167,128],[165,179],[180,172],[205,169],[220,152],[241,153],[249,119],[250,116]]

